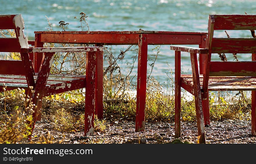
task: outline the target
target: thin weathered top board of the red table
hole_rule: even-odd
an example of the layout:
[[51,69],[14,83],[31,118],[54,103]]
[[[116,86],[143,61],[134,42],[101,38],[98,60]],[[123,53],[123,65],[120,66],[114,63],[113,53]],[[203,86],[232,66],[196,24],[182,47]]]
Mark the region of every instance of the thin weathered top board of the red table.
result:
[[35,31],[35,34],[177,34],[177,35],[207,35],[203,32],[183,31]]

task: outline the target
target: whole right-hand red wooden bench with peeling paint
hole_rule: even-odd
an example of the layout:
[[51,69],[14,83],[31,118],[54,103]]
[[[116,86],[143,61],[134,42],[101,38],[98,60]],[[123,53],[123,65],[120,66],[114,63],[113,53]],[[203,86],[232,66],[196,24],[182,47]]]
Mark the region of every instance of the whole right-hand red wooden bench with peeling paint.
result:
[[[206,143],[210,124],[208,91],[252,91],[252,135],[256,135],[256,38],[216,38],[214,30],[254,30],[256,15],[209,15],[206,48],[170,46],[175,50],[175,136],[181,136],[181,87],[195,96],[199,143]],[[192,75],[181,75],[181,51],[190,53]],[[202,75],[197,54],[202,54]],[[211,54],[252,53],[252,61],[211,61]]]

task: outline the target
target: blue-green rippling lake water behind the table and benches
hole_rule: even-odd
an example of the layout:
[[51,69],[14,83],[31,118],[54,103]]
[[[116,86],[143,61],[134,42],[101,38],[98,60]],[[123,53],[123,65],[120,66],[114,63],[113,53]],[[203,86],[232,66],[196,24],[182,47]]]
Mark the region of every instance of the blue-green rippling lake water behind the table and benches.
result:
[[[22,14],[25,35],[34,39],[34,31],[47,30],[46,16],[53,30],[62,30],[59,21],[69,23],[67,30],[79,31],[80,12],[88,16],[91,31],[155,30],[207,32],[209,14],[256,14],[255,0],[0,0],[0,14]],[[74,19],[77,17],[78,19]],[[231,37],[250,36],[250,31],[228,31]],[[216,35],[225,36],[224,32]],[[127,46],[112,46],[115,52]],[[149,46],[148,54],[155,46]],[[130,62],[127,53],[120,65]],[[250,60],[250,55],[237,55],[238,59]],[[151,57],[151,56],[150,56]],[[152,58],[152,57],[151,57]],[[233,60],[232,55],[227,57]],[[216,60],[220,60],[216,55]],[[137,63],[136,63],[137,64]],[[148,67],[149,68],[149,67]],[[161,84],[168,81],[170,69],[174,71],[174,51],[162,45],[153,72]],[[127,69],[124,69],[125,74]],[[135,66],[133,75],[136,74]],[[191,73],[189,54],[182,55],[182,71]]]

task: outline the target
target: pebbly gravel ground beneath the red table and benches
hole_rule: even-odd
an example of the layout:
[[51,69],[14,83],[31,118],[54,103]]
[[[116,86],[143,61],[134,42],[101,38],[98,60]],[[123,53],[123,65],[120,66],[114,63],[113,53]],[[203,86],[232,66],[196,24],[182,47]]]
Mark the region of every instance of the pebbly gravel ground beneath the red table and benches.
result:
[[[145,131],[135,132],[135,122],[128,120],[108,121],[104,132],[94,132],[94,136],[84,136],[83,131],[58,132],[47,121],[37,121],[33,131],[32,143],[39,140],[46,143],[197,143],[195,122],[182,122],[182,137],[174,138],[174,122],[146,123]],[[212,121],[205,128],[206,142],[211,144],[256,143],[256,136],[251,135],[250,120]]]

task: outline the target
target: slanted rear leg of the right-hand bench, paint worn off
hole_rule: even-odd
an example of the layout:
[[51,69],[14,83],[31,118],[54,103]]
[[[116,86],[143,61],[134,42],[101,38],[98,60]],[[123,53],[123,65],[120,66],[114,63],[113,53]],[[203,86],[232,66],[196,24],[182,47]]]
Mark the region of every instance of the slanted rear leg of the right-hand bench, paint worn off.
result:
[[192,66],[192,76],[194,85],[194,96],[195,96],[195,110],[196,110],[196,120],[198,127],[198,142],[206,143],[205,141],[205,127],[204,127],[204,116],[202,109],[202,92],[200,88],[197,54],[190,53],[191,66]]

